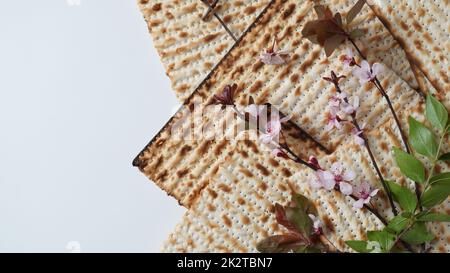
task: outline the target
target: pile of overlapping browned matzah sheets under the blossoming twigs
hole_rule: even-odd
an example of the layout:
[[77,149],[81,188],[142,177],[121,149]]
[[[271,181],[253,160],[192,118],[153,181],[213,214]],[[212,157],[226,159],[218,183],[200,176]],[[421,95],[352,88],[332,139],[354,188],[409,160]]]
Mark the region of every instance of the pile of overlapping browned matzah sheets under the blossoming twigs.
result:
[[[292,115],[288,135],[290,141],[295,143],[295,151],[303,159],[315,155],[327,167],[339,161],[357,173],[357,180],[369,181],[372,186],[380,188],[367,151],[355,145],[349,134],[324,130],[327,122],[324,109],[336,91],[322,77],[329,76],[330,71],[334,70],[347,76],[342,82],[342,88],[361,98],[358,119],[361,124],[367,123],[369,144],[377,162],[383,166],[381,171],[385,178],[414,187],[413,183],[402,177],[398,168],[393,167],[396,165],[390,151],[394,146],[402,147],[402,144],[385,101],[373,85],[361,87],[358,80],[343,68],[339,55],[343,55],[350,45],[342,45],[327,59],[322,48],[301,37],[304,24],[316,18],[313,12],[315,4],[328,4],[333,12],[345,13],[356,1],[220,2],[226,3],[223,8],[217,8],[218,13],[223,13],[222,16],[227,14],[225,6],[228,12],[236,10],[242,13],[255,5],[251,9],[252,16],[235,14],[227,20],[230,29],[237,36],[242,36],[236,44],[220,24],[216,22],[213,26],[212,21],[201,20],[207,9],[201,1],[140,1],[174,88],[180,98],[188,97],[184,108],[133,162],[163,190],[189,208],[163,250],[256,251],[259,240],[282,232],[282,227],[276,223],[272,213],[273,204],[286,204],[292,191],[314,200],[326,224],[327,235],[338,248],[348,250],[344,241],[361,239],[365,231],[380,229],[383,224],[370,212],[354,209],[353,200],[349,197],[337,192],[312,190],[308,183],[313,176],[310,169],[274,158],[270,149],[251,136],[235,136],[233,132],[242,121],[236,119],[233,111],[222,111],[219,106],[214,109],[208,107],[207,115],[192,117],[190,110],[206,109],[214,94],[221,92],[225,85],[236,83],[238,104],[245,105],[249,96],[252,96],[257,103],[277,105],[284,114]],[[188,3],[190,9],[185,6]],[[177,13],[179,16],[167,17],[167,13]],[[377,13],[383,13],[382,9],[377,9]],[[180,19],[184,17],[186,21]],[[191,27],[182,28],[181,24]],[[424,80],[423,77],[416,80],[414,75],[420,73],[427,76],[430,73],[427,74],[417,62],[411,69],[404,51],[390,34],[392,28],[386,29],[370,8],[365,7],[352,24],[358,25],[366,33],[359,39],[358,45],[363,48],[368,59],[386,66],[380,80],[393,101],[403,128],[408,128],[409,115],[423,120],[424,104],[418,93],[419,86],[424,82],[437,86],[436,80]],[[179,35],[181,31],[187,32],[187,36]],[[211,35],[211,31],[221,33],[220,39],[227,44],[227,50],[231,48],[228,53],[214,50],[217,47],[214,42],[200,42],[201,37]],[[181,39],[176,35],[191,38]],[[290,56],[285,65],[264,65],[258,56],[270,46],[275,35],[279,39],[278,46],[290,51]],[[183,44],[195,46],[189,46],[190,49],[185,51]],[[200,44],[201,48],[197,48]],[[167,54],[177,51],[178,54]],[[189,65],[184,66],[183,60],[192,60],[196,54],[194,64],[186,68]],[[205,66],[206,62],[211,65]],[[424,60],[424,63],[428,62]],[[444,73],[448,73],[448,69],[444,70]],[[439,80],[442,78],[439,77]],[[197,83],[198,88],[195,87]],[[439,91],[438,88],[436,90]],[[448,105],[447,93],[440,93],[447,98]],[[193,126],[198,124],[201,128]],[[224,127],[224,124],[227,137],[198,137],[203,128],[212,130]],[[317,142],[327,149],[320,147]],[[444,146],[444,150],[448,151],[449,143]],[[446,169],[449,166],[440,167]],[[386,196],[380,195],[376,201],[382,214],[391,217]],[[448,210],[449,206],[449,203],[444,203],[441,209]],[[432,228],[442,239],[433,242],[433,251],[450,251],[447,243],[450,240],[450,227],[447,224],[435,224]]]

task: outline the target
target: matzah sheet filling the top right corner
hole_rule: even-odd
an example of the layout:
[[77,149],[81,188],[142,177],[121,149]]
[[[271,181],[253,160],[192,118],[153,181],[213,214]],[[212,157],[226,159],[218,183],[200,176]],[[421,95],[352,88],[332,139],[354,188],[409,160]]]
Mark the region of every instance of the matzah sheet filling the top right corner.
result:
[[[450,109],[450,2],[379,0],[371,6]],[[423,85],[427,88],[426,85]],[[429,88],[427,88],[429,90]]]

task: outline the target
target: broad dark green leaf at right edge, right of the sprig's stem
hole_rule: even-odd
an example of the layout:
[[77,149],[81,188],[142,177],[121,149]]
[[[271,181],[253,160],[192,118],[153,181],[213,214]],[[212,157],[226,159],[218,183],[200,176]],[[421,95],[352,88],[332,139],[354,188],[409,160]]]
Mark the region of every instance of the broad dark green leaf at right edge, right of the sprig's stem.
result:
[[447,199],[450,194],[450,173],[441,173],[430,179],[430,187],[423,193],[422,205],[431,208]]

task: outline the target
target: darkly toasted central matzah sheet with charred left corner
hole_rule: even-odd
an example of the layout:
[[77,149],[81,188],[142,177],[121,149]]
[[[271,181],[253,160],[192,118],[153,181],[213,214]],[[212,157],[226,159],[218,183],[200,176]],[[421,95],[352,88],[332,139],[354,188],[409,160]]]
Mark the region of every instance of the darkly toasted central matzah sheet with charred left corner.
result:
[[[334,88],[323,81],[322,77],[329,76],[332,68],[338,74],[349,76],[349,72],[343,71],[338,55],[327,59],[321,47],[301,37],[303,24],[315,18],[312,12],[314,3],[308,1],[297,3],[297,1],[276,1],[261,22],[247,33],[235,49],[226,56],[220,67],[213,71],[208,81],[185,102],[185,110],[194,109],[198,101],[200,105],[205,106],[212,95],[221,92],[226,84],[237,83],[238,103],[245,104],[248,101],[248,95],[252,95],[257,103],[269,102],[279,105],[283,113],[292,114],[292,121],[305,129],[314,139],[320,140],[330,150],[336,147],[341,137],[336,134],[330,135],[324,130],[327,121],[325,109],[329,97],[334,94]],[[273,33],[281,35],[282,48],[292,49],[290,60],[286,65],[268,66],[258,60],[257,56],[270,44]],[[345,52],[345,47],[342,46],[340,51]],[[368,53],[370,55],[370,52]],[[395,74],[386,73],[382,83],[391,95],[396,109],[417,108],[417,104],[401,103],[415,94],[402,93],[403,89],[409,89],[409,87]],[[367,111],[365,122],[369,126],[381,124],[391,117],[386,103],[373,85],[366,84],[360,88],[359,83],[353,79],[345,81],[342,88],[349,92],[358,90],[361,100],[367,103],[363,111]],[[189,206],[190,200],[197,195],[196,191],[203,187],[204,182],[196,181],[196,179],[200,179],[199,174],[204,169],[214,170],[211,162],[214,162],[220,153],[215,153],[206,141],[186,143],[170,139],[170,131],[174,125],[190,127],[190,122],[184,121],[186,111],[178,112],[171,119],[161,133],[137,157],[134,164],[166,192],[174,195],[182,204]],[[405,120],[407,112],[398,112],[400,118]],[[220,118],[229,119],[232,114],[228,112]],[[206,115],[203,120],[196,120],[197,124],[207,124],[210,121],[209,115]],[[220,124],[220,120],[213,121]],[[406,128],[406,124],[404,127]],[[228,151],[225,141],[220,144],[214,143],[213,146],[217,145],[221,147],[222,154]],[[176,173],[183,174],[186,169],[192,169],[189,164],[196,163],[199,159],[201,159],[200,162],[205,163],[198,164],[203,167],[193,168],[198,169],[198,172],[195,172],[192,177],[185,179],[176,177]]]

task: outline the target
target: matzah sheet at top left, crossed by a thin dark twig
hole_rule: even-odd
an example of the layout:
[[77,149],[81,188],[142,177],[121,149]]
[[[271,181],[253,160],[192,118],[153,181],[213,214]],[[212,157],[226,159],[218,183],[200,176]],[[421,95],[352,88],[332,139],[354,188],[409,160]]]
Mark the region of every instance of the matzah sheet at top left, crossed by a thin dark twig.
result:
[[[270,0],[219,1],[215,11],[235,37],[256,19]],[[172,88],[184,101],[234,44],[216,18],[203,21],[208,7],[200,0],[138,0]]]

